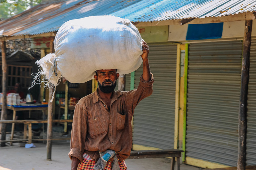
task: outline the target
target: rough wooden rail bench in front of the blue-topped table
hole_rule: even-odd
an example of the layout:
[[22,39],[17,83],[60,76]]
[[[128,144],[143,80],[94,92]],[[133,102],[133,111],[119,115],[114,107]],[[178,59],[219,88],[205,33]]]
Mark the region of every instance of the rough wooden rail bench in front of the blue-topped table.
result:
[[[52,120],[53,123],[59,122],[73,122],[73,120]],[[28,144],[32,143],[32,123],[47,123],[47,120],[0,120],[0,123],[24,123],[24,136],[23,139],[18,140],[4,140],[1,142],[28,142]],[[28,125],[28,139],[27,139],[27,125]],[[44,130],[44,129],[43,129]],[[44,131],[43,131],[44,133]],[[68,140],[70,138],[60,138],[60,139],[52,139],[52,140]],[[33,140],[40,140],[45,141],[47,139],[33,139]]]

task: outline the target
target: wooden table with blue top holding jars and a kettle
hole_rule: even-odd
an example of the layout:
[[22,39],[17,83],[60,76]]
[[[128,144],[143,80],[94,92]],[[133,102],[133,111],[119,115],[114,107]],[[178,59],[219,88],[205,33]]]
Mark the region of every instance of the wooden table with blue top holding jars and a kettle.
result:
[[[16,111],[29,111],[29,117],[30,117],[30,112],[32,110],[42,110],[43,119],[44,119],[45,111],[48,109],[48,105],[42,105],[42,104],[21,104],[18,106],[7,105],[7,109],[13,110],[12,120],[15,120]],[[13,140],[14,127],[15,127],[15,123],[12,123],[11,140]],[[43,136],[44,136],[44,124],[43,124]],[[10,145],[12,145],[12,142],[10,142]]]

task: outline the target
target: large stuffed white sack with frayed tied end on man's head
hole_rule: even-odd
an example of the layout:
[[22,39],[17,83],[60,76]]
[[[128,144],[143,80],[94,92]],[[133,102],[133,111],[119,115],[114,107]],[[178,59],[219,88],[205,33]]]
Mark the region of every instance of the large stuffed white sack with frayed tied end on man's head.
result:
[[131,73],[142,63],[142,41],[138,29],[128,19],[92,16],[70,20],[56,34],[55,54],[37,61],[41,71],[34,80],[44,75],[47,80],[40,82],[56,86],[61,76],[71,83],[84,83],[101,69]]

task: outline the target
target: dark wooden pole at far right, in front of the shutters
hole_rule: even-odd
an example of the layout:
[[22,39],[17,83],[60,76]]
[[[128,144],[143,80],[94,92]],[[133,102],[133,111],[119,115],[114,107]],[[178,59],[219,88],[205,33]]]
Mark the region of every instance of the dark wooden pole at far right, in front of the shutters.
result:
[[241,91],[239,105],[238,124],[238,160],[237,170],[245,170],[246,155],[246,128],[247,128],[247,94],[249,84],[250,48],[252,39],[252,20],[245,21],[243,58],[241,70]]

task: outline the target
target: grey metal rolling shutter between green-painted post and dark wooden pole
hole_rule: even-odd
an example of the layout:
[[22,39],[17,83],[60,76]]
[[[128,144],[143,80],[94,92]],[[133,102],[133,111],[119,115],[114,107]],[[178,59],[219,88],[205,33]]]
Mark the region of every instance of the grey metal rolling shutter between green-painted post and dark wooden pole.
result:
[[186,156],[236,166],[242,42],[192,43]]

